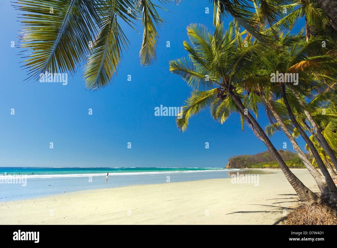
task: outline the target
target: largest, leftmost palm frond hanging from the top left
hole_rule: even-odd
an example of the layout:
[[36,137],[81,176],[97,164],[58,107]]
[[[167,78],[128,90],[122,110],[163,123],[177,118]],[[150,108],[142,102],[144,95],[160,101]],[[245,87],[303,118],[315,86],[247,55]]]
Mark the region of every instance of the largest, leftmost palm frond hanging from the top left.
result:
[[22,0],[19,35],[28,79],[40,73],[73,73],[92,40],[95,0]]

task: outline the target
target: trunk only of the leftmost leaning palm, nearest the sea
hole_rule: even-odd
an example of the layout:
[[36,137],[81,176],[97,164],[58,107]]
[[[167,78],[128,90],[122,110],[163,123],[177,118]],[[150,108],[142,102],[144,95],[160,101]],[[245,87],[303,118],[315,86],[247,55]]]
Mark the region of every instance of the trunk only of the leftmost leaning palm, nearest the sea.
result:
[[[236,96],[236,94],[229,89],[228,94],[233,98],[233,101],[238,106],[242,113],[245,112],[245,107],[243,106],[241,100]],[[257,123],[255,118],[248,112],[247,118],[252,123],[253,127],[256,129],[259,137],[265,143],[268,150],[270,151],[271,155],[276,160],[277,164],[280,166],[282,172],[284,173],[285,177],[289,181],[289,183],[293,186],[294,190],[296,191],[297,195],[299,196],[300,200],[304,204],[312,204],[314,202],[321,202],[321,199],[310,189],[308,189],[295,175],[290,169],[286,166],[284,161],[282,160],[280,154],[277,152],[276,148],[273,146],[272,142],[269,140],[266,133]]]

